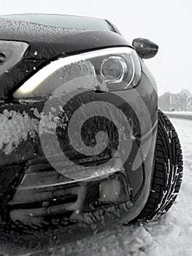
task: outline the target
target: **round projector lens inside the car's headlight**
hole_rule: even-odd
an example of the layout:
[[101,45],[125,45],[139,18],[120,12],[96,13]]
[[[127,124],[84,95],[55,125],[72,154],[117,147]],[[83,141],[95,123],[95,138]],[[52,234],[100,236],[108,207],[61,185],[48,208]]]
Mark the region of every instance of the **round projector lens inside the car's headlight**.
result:
[[126,62],[118,56],[112,56],[104,59],[101,64],[101,75],[106,82],[121,82],[125,72]]

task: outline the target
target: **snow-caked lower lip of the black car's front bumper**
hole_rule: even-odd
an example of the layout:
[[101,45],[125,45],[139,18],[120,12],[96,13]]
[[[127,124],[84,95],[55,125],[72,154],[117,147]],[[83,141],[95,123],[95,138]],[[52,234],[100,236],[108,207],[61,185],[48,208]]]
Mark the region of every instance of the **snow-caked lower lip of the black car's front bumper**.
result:
[[[149,154],[153,154],[155,146],[155,128],[153,133],[153,144]],[[148,167],[148,168],[147,168]],[[17,225],[7,225],[7,222],[1,222],[1,253],[8,255],[23,255],[27,252],[38,252],[43,249],[51,249],[53,246],[68,244],[72,241],[93,236],[104,230],[110,230],[116,225],[123,225],[129,222],[139,214],[139,211],[145,206],[147,194],[150,190],[150,179],[153,167],[150,155],[145,159],[145,180],[139,193],[134,200],[128,200],[124,203],[113,203],[113,205],[99,208],[97,211],[89,211],[77,214],[79,218],[72,222],[69,220],[53,218],[52,222],[43,225],[33,225],[29,227],[19,223]],[[139,176],[137,177],[139,178]],[[67,219],[67,218],[66,218]],[[11,231],[10,231],[11,227]],[[11,245],[11,246],[10,246]]]

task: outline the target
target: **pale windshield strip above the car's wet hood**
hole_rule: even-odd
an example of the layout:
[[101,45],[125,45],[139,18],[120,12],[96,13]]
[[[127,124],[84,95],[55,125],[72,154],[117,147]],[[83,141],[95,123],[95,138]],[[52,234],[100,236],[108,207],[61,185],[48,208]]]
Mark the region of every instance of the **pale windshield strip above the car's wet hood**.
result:
[[1,15],[0,18],[23,20],[32,23],[39,23],[45,26],[56,26],[65,29],[98,29],[102,31],[111,31],[108,23],[99,18],[50,14],[12,14]]

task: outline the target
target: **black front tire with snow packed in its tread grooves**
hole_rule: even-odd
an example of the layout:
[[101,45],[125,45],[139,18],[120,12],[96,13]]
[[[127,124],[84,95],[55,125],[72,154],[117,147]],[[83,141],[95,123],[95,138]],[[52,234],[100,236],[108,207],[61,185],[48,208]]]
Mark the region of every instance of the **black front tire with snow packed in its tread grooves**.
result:
[[137,220],[161,217],[172,207],[180,191],[183,156],[177,132],[169,118],[158,110],[153,181],[150,195]]

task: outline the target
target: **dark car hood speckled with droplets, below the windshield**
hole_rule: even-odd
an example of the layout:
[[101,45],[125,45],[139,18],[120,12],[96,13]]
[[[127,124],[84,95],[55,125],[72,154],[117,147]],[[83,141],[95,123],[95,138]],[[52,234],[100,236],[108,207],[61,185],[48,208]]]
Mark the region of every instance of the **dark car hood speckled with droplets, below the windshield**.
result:
[[0,18],[0,31],[0,39],[28,42],[26,59],[51,59],[97,48],[131,46],[112,31],[64,29],[9,18]]

